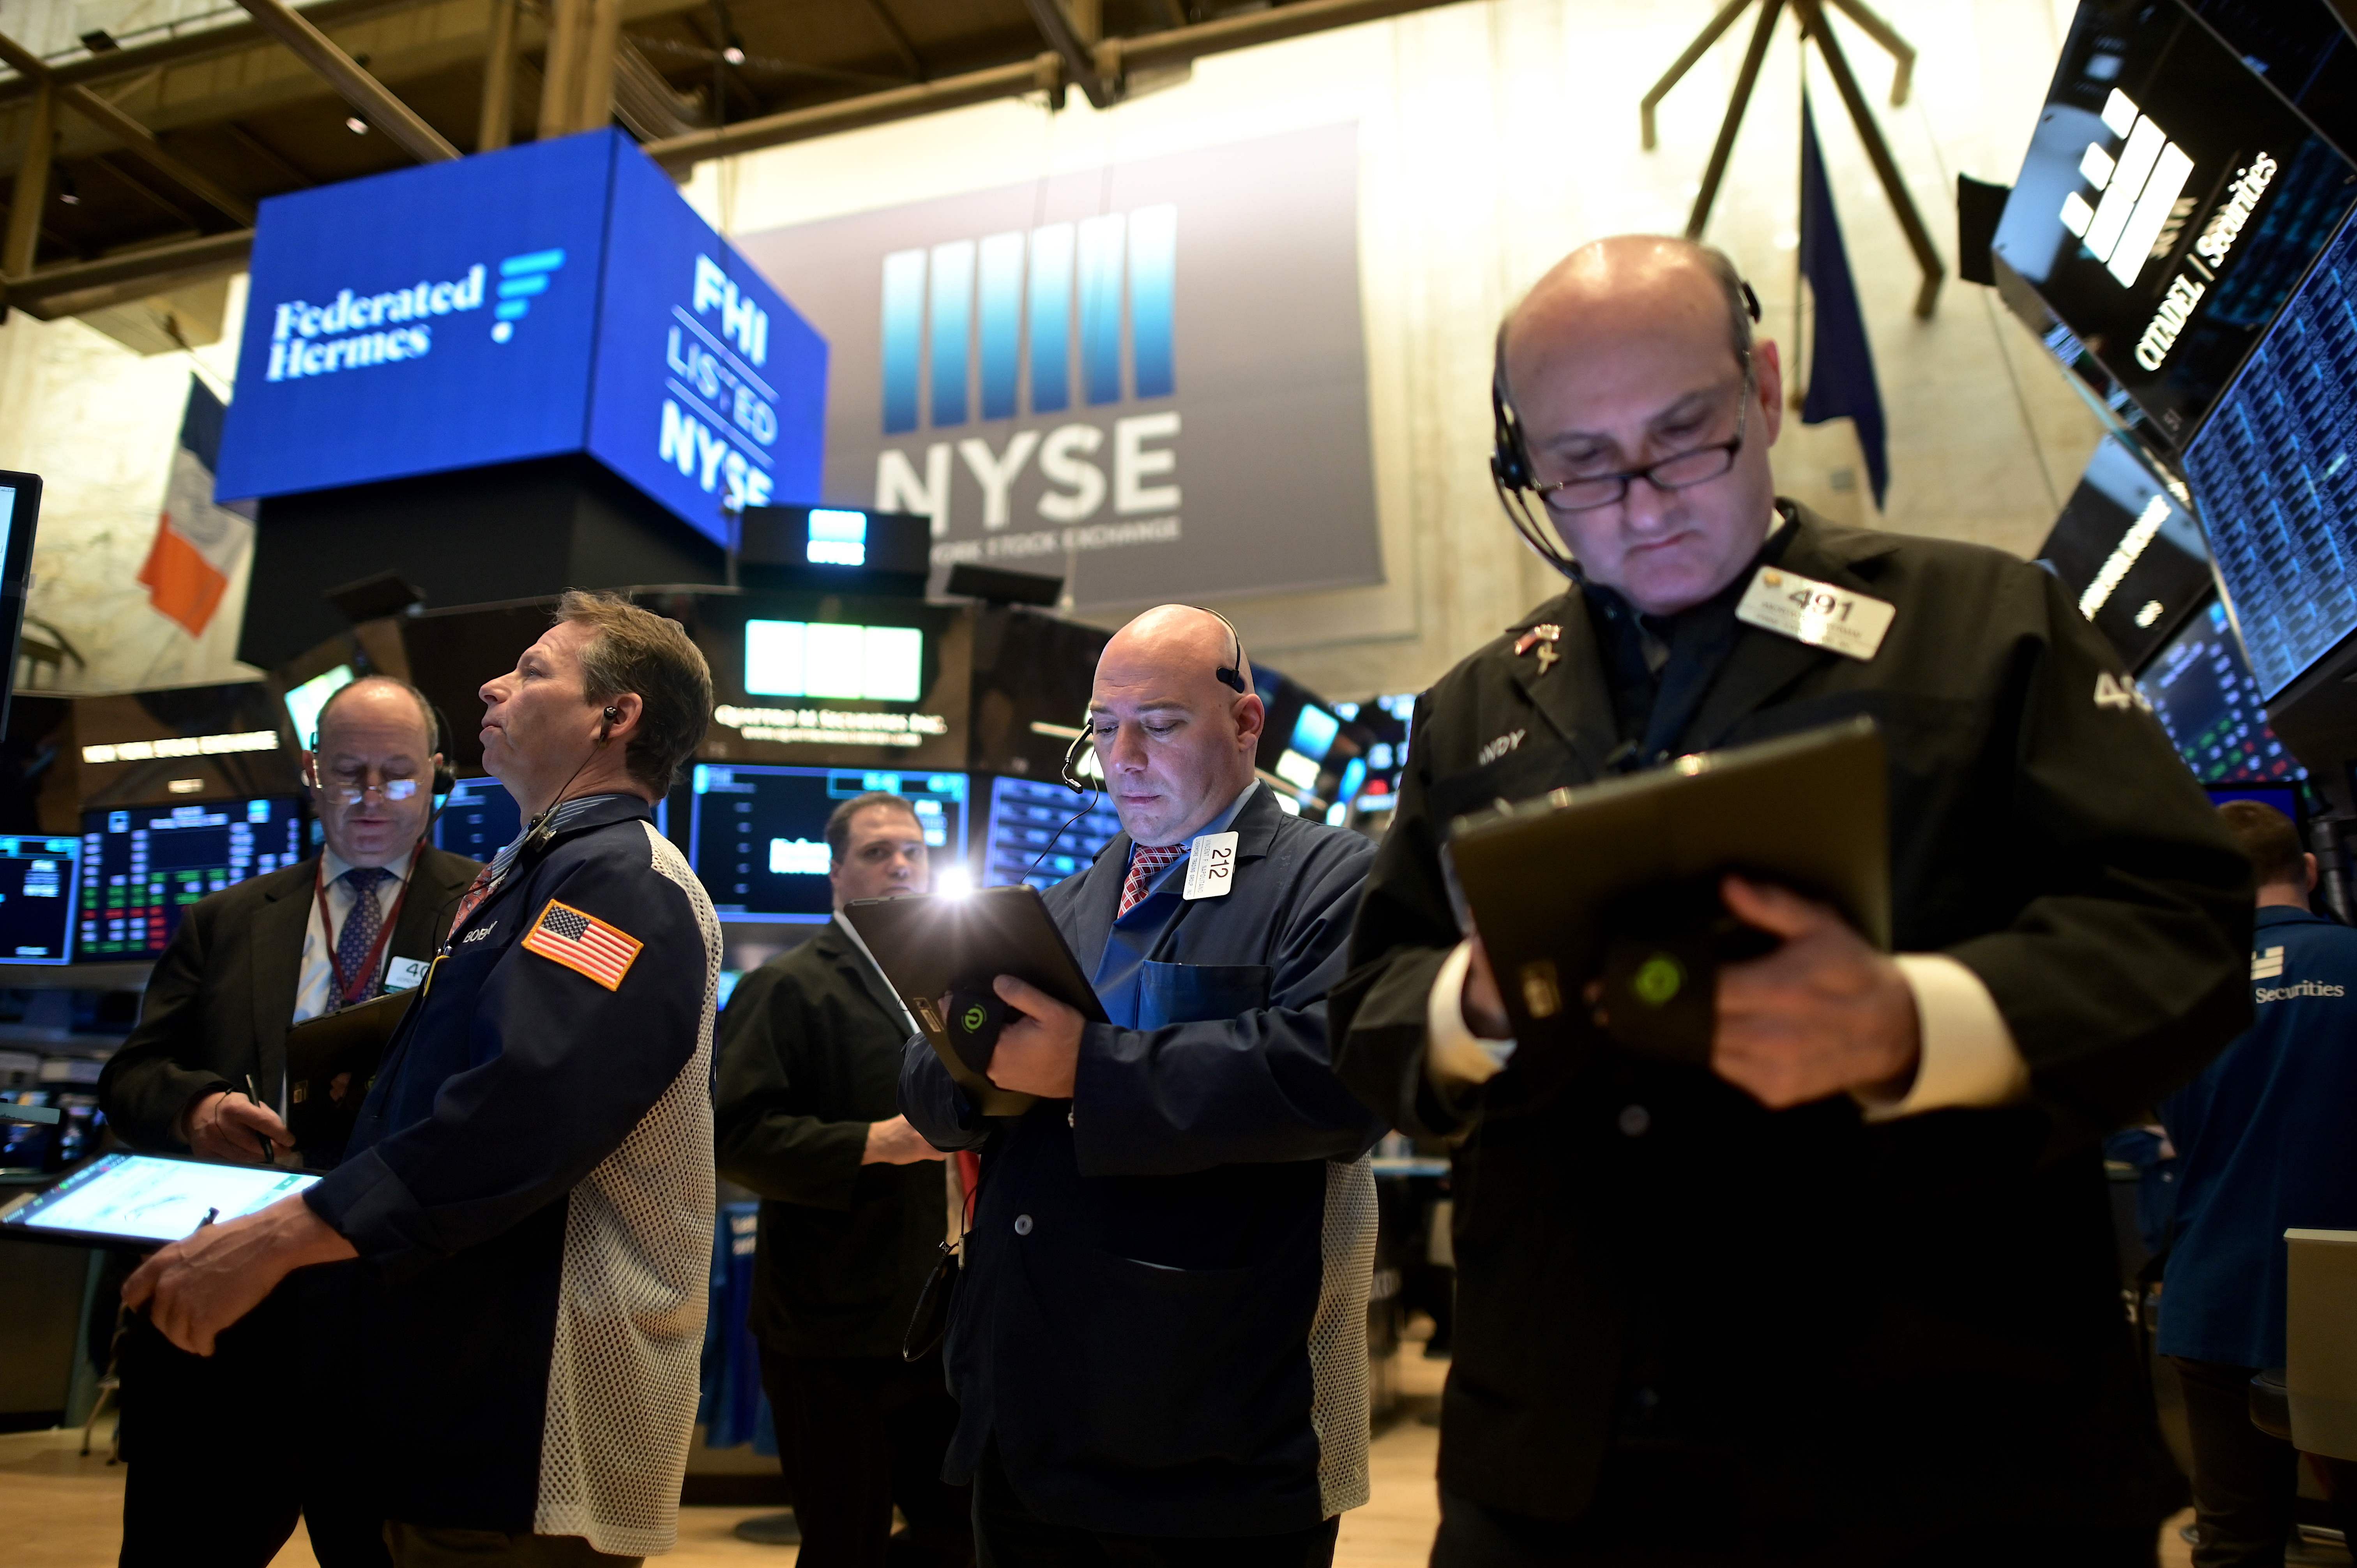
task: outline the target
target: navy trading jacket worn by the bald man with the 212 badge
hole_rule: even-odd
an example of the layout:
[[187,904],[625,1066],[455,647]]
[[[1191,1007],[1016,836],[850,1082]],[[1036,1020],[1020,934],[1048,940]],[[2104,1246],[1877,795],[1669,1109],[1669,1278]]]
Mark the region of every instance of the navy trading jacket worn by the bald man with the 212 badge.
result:
[[948,1474],[995,1441],[1070,1528],[1275,1535],[1365,1500],[1381,1125],[1332,1073],[1325,993],[1374,846],[1266,788],[1230,828],[1223,898],[1183,901],[1181,861],[1115,929],[1127,835],[1049,889],[1101,993],[1117,981],[1070,1101],[983,1118],[922,1037],[900,1066],[910,1122],[983,1151]]

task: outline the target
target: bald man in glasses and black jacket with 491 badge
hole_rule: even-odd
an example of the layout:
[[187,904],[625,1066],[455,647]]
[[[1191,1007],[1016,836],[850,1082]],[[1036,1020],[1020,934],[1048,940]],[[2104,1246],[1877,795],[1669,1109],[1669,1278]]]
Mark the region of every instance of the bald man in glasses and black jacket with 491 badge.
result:
[[[2150,1566],[2098,1139],[2246,1021],[2249,865],[2048,573],[1775,495],[1754,314],[1631,236],[1499,332],[1499,488],[1572,587],[1417,703],[1332,1004],[1339,1073],[1459,1141],[1433,1561]],[[1780,630],[1803,589],[1860,632]],[[1725,877],[1772,948],[1709,1068],[1516,1047],[1454,816],[1855,714],[1897,955]]]

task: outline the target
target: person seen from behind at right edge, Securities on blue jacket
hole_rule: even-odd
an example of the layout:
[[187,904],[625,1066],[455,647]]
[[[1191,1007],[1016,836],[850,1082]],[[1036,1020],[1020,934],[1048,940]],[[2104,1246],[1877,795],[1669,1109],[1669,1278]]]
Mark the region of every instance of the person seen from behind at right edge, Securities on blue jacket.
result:
[[[2194,1568],[2282,1563],[2298,1495],[2291,1443],[2251,1424],[2251,1377],[2284,1365],[2284,1231],[2357,1228],[2357,931],[2308,910],[2317,858],[2275,806],[2218,809],[2258,872],[2258,1019],[2166,1101],[2178,1148],[2161,1353],[2185,1389],[2194,1450]],[[2331,1471],[2357,1530],[2357,1464]]]

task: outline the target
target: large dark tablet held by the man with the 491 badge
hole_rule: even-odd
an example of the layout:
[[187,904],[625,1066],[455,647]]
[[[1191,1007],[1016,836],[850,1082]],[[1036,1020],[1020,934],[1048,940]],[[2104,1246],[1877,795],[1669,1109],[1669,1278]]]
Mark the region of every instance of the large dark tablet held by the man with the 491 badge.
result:
[[1702,1066],[1716,967],[1775,946],[1725,913],[1728,872],[1829,903],[1890,948],[1883,738],[1860,717],[1461,816],[1447,865],[1523,1047],[1603,1033]]

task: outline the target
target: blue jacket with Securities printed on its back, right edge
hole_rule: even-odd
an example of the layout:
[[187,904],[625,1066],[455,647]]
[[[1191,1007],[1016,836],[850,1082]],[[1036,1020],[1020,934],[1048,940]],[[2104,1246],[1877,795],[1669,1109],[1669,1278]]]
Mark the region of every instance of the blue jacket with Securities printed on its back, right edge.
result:
[[2161,1101],[2178,1148],[2164,1356],[2284,1365],[2284,1231],[2357,1228],[2357,931],[2263,908],[2258,1021]]

